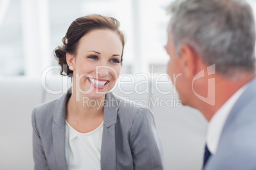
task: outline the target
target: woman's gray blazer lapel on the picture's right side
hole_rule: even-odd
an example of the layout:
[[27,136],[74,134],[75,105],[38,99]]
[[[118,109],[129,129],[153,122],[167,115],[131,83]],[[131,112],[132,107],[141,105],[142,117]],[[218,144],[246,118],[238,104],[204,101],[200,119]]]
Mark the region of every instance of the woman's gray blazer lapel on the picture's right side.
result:
[[101,170],[117,169],[115,151],[115,124],[120,105],[113,93],[107,93],[104,103],[103,141],[101,144]]

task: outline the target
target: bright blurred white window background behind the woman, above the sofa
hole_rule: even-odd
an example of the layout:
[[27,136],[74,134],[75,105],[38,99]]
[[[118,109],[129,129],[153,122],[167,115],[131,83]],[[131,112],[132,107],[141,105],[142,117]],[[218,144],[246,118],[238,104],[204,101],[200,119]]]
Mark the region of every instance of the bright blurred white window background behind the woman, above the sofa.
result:
[[[171,0],[172,1],[172,0]],[[0,76],[39,77],[57,65],[53,49],[80,16],[113,16],[125,32],[122,72],[166,72],[164,50],[170,0],[0,0]],[[59,74],[55,69],[48,74]]]

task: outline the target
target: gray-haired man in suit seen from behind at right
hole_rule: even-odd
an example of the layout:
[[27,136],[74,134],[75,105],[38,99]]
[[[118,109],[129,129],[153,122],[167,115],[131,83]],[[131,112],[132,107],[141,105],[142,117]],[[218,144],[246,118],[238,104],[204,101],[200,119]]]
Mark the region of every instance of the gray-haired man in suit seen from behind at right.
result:
[[252,9],[243,0],[182,0],[168,10],[167,73],[183,105],[210,121],[204,169],[256,169]]

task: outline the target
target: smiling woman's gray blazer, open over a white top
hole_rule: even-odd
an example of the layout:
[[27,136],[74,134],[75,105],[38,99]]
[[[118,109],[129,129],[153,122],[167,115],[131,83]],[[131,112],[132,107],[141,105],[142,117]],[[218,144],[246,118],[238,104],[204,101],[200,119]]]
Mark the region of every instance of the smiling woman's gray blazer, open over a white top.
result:
[[[34,169],[67,170],[66,101],[70,94],[44,103],[32,112]],[[104,103],[102,170],[163,169],[162,146],[152,110],[113,93]]]

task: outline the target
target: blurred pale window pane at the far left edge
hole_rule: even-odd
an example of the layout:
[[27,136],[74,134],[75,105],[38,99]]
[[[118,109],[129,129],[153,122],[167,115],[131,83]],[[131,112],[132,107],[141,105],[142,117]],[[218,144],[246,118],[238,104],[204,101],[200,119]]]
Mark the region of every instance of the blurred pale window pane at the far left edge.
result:
[[0,76],[24,75],[20,1],[0,1]]

